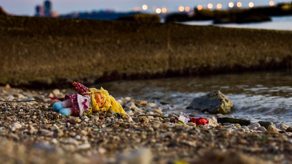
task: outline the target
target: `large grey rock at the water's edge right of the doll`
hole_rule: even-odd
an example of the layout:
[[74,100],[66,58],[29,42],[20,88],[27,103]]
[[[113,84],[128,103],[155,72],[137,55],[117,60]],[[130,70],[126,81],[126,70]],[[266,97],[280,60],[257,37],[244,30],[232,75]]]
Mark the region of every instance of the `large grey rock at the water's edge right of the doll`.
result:
[[199,109],[211,114],[228,114],[233,107],[232,102],[220,91],[212,91],[206,96],[194,98],[187,109]]

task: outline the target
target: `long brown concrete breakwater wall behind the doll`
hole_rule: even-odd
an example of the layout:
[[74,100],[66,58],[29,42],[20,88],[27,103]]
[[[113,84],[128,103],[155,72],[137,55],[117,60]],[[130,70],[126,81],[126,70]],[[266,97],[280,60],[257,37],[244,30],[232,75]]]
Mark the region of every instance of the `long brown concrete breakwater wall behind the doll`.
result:
[[0,84],[56,87],[291,68],[292,32],[0,16]]

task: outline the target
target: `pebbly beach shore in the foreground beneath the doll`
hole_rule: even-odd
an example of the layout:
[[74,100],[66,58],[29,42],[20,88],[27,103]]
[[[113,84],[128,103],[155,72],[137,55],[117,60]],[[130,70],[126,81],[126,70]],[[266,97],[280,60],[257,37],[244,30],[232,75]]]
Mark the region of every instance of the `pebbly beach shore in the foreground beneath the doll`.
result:
[[[48,94],[3,87],[0,90],[1,98],[6,100],[11,96],[46,98]],[[260,128],[245,130],[246,127],[236,128],[239,125],[235,124],[218,126],[212,120],[220,115],[212,114],[208,126],[180,125],[170,119],[138,117],[141,111],[163,115],[167,109],[159,109],[159,104],[148,102],[146,106],[135,107],[138,102],[131,98],[119,101],[131,104],[135,109],[130,110],[132,116],[97,112],[66,117],[53,112],[46,104],[0,103],[1,160],[7,163],[47,163],[48,160],[56,163],[291,163],[290,132],[279,134],[275,128],[265,132]]]

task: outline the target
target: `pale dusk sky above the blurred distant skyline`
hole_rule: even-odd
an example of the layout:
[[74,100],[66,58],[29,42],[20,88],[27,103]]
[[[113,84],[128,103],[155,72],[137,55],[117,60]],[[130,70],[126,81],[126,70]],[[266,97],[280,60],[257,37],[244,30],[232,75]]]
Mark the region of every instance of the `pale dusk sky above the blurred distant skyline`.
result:
[[[152,6],[158,8],[166,7],[169,12],[178,11],[180,5],[193,8],[197,5],[207,5],[212,3],[214,6],[221,3],[223,8],[227,8],[229,2],[241,2],[242,7],[248,7],[249,2],[253,2],[254,6],[269,6],[271,0],[51,0],[53,3],[53,11],[60,14],[93,11],[93,10],[116,10],[131,11],[135,6],[142,7],[148,5],[146,12],[154,12]],[[283,0],[273,0],[275,4],[285,2]],[[286,1],[286,2],[291,2]],[[44,0],[0,0],[0,6],[10,14],[14,15],[34,15],[35,6],[42,5]],[[214,9],[214,8],[213,8]]]

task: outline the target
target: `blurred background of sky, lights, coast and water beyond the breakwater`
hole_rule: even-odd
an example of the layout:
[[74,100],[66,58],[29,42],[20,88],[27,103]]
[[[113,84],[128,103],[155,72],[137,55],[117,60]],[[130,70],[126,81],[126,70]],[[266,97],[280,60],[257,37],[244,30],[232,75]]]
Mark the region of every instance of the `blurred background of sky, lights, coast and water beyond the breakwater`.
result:
[[0,5],[10,15],[292,30],[292,2],[283,0],[2,0]]

